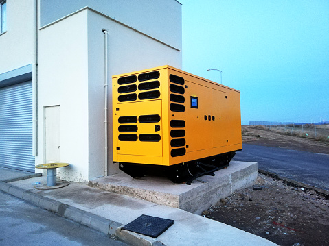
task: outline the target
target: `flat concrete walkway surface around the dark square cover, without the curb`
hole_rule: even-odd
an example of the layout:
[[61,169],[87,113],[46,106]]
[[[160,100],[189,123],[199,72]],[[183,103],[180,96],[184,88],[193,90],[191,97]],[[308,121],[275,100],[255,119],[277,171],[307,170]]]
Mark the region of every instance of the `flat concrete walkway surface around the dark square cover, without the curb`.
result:
[[[30,190],[33,193],[54,199],[66,209],[63,213],[70,210],[71,219],[81,221],[84,216],[96,214],[115,223],[110,224],[110,230],[113,232],[120,227],[130,223],[141,214],[174,220],[166,232],[163,232],[156,241],[150,241],[148,237],[142,235],[132,235],[129,237],[126,233],[120,233],[123,238],[130,238],[131,241],[144,242],[146,245],[276,245],[264,238],[244,232],[237,228],[225,225],[218,221],[213,221],[197,214],[192,214],[178,208],[162,206],[159,204],[134,199],[126,195],[119,195],[98,188],[88,187],[84,183],[71,182],[69,186],[57,190],[36,190],[35,182],[45,182],[47,177],[35,177],[30,180],[20,180],[12,182],[13,186]],[[74,213],[78,210],[85,211],[81,214]],[[58,208],[60,210],[60,208]],[[75,210],[75,211],[73,211]],[[60,211],[58,212],[60,214]],[[74,217],[73,216],[77,216]],[[68,213],[67,213],[68,215]],[[85,220],[86,218],[83,218]],[[87,220],[89,221],[89,220]],[[91,221],[91,220],[90,220]],[[97,223],[95,221],[95,223]],[[90,226],[90,224],[89,224]],[[107,224],[106,224],[107,226]],[[95,228],[100,230],[100,228]],[[139,239],[140,238],[140,239]],[[135,242],[137,245],[137,242]]]

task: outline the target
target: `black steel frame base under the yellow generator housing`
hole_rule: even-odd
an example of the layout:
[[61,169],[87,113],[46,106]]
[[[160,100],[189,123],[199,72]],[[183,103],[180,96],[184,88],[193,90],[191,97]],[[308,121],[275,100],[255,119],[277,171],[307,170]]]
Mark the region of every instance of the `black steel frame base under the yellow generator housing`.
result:
[[215,171],[228,167],[235,154],[236,151],[231,151],[172,166],[119,162],[119,168],[133,178],[144,177],[145,175],[161,175],[168,177],[174,183],[186,182],[186,184],[190,185],[198,177],[203,175],[214,176]]

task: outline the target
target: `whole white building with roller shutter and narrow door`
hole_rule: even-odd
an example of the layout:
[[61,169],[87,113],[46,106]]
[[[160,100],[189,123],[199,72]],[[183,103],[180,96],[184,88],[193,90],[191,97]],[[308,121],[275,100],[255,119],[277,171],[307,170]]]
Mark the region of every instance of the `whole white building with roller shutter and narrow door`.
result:
[[36,164],[67,162],[58,176],[78,182],[116,173],[111,76],[165,64],[181,69],[181,4],[0,0],[0,5],[0,166],[41,172]]

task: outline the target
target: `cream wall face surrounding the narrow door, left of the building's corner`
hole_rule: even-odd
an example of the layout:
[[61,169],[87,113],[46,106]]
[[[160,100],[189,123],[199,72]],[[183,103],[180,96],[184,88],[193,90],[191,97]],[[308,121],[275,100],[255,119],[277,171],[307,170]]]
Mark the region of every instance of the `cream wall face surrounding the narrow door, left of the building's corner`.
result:
[[[69,167],[59,177],[89,178],[87,10],[41,29],[38,45],[38,156],[46,162],[45,108],[59,106],[60,158]],[[55,124],[55,123],[54,123]],[[48,148],[48,149],[47,149]]]

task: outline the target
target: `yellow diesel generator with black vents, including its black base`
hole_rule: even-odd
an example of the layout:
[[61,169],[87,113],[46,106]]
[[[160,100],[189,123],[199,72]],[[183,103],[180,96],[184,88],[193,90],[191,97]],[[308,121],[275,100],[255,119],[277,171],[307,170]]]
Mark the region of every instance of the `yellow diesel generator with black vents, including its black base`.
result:
[[113,162],[131,177],[187,182],[242,149],[240,92],[159,66],[113,76]]

